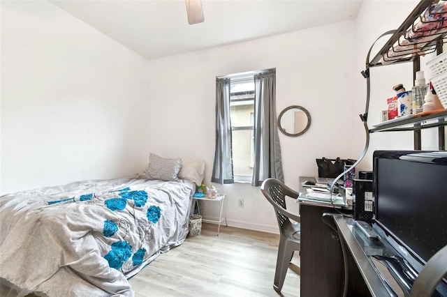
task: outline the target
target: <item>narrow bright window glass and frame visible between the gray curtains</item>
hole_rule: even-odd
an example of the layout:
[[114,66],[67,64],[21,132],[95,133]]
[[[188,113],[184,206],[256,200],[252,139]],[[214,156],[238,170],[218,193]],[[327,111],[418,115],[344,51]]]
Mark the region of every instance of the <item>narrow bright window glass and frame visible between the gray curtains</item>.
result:
[[232,79],[230,120],[235,181],[250,181],[254,167],[254,79]]

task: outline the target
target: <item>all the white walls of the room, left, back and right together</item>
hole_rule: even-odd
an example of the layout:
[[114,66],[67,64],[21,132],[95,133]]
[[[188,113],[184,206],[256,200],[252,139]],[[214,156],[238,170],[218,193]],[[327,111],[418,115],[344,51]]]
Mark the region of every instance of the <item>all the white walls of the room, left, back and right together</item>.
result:
[[[362,152],[366,53],[418,1],[364,1],[356,21],[154,61],[50,3],[0,3],[3,194],[131,176],[145,167],[149,152],[205,159],[211,185],[215,77],[265,68],[277,69],[277,114],[302,105],[312,115],[304,135],[280,135],[286,183],[298,189],[298,176],[317,174],[315,158]],[[410,64],[372,69],[370,126],[398,83],[412,86]],[[424,137],[423,148],[432,146],[436,137]],[[374,149],[412,147],[411,132],[374,133],[362,167],[371,169]],[[216,186],[228,197],[229,224],[277,232],[259,188]],[[298,209],[294,201],[290,206]],[[216,218],[218,210],[218,204],[203,205],[205,218]]]

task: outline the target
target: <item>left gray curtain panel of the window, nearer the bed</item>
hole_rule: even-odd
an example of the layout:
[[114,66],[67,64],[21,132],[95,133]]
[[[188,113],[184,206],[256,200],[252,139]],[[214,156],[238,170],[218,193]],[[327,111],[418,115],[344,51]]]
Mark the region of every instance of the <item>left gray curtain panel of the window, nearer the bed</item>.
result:
[[234,183],[231,151],[230,79],[216,79],[216,151],[211,181]]

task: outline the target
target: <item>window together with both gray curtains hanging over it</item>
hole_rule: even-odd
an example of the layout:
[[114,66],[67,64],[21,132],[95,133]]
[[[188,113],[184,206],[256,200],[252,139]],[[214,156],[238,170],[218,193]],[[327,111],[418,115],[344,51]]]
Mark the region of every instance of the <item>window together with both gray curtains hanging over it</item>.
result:
[[284,181],[275,90],[275,69],[216,77],[213,183]]

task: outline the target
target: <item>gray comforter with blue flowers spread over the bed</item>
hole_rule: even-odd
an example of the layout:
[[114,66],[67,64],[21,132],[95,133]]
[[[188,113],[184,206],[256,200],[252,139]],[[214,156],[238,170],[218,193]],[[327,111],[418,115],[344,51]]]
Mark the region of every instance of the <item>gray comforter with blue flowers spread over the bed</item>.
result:
[[120,178],[0,197],[0,277],[20,295],[133,296],[127,278],[184,242],[194,186]]

